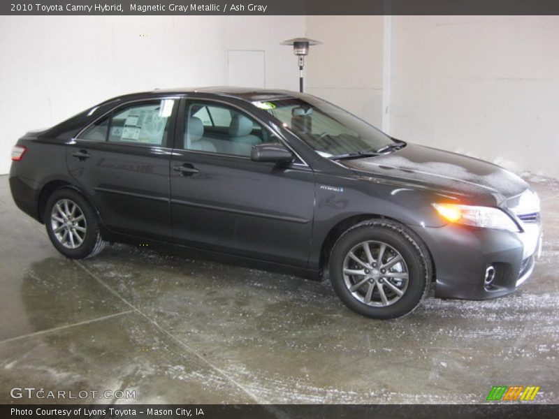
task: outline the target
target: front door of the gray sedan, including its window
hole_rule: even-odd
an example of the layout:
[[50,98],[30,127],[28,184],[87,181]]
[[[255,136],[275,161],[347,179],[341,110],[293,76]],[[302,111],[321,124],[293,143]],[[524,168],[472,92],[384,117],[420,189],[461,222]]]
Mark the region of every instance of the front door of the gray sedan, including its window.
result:
[[279,141],[240,108],[184,101],[171,157],[176,242],[306,266],[312,233],[314,173],[250,159],[252,145]]

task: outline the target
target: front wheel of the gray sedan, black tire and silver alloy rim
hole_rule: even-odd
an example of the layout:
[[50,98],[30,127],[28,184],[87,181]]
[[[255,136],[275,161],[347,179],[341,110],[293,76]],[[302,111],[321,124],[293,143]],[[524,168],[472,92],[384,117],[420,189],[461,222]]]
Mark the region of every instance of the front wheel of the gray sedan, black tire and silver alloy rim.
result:
[[352,226],[330,256],[330,279],[340,300],[362,316],[382,320],[414,311],[429,291],[430,272],[419,237],[386,219]]

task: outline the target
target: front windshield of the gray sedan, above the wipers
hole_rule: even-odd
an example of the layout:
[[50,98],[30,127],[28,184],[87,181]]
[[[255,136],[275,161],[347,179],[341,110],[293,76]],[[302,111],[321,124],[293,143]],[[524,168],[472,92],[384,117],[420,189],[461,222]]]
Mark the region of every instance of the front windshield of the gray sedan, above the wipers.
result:
[[253,102],[276,117],[321,156],[335,158],[374,153],[393,144],[374,126],[326,101],[312,96]]

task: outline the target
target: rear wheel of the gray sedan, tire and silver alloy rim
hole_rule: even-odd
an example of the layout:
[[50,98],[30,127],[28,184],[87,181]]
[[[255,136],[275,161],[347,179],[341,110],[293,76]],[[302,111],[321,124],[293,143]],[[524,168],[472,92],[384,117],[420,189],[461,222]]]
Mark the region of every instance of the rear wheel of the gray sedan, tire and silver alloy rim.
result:
[[74,189],[54,191],[43,219],[52,245],[66,258],[91,258],[106,245],[94,208]]

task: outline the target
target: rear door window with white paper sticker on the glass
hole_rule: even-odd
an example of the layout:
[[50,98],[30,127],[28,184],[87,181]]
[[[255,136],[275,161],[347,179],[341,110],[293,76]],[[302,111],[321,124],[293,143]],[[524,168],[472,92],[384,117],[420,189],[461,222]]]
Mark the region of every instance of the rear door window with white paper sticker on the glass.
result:
[[175,100],[137,102],[113,111],[89,126],[82,140],[165,145]]

